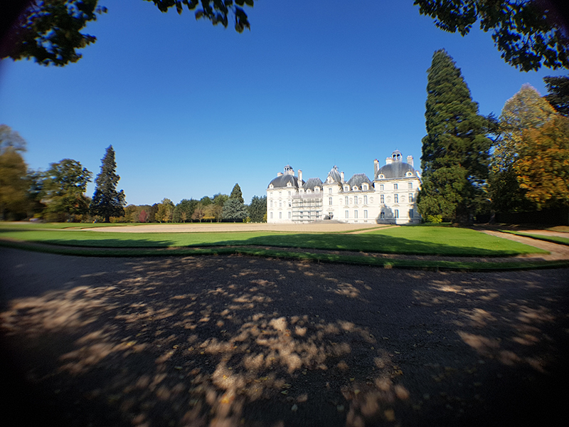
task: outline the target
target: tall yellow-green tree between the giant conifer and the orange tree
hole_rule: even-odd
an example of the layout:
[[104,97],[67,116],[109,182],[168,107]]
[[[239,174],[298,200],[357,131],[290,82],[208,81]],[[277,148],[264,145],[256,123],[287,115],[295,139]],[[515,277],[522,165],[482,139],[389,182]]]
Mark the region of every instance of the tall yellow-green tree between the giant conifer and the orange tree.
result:
[[514,165],[519,159],[523,133],[541,127],[554,115],[553,107],[531,85],[522,85],[504,104],[490,162],[489,194],[494,210],[511,212],[536,208],[519,185]]

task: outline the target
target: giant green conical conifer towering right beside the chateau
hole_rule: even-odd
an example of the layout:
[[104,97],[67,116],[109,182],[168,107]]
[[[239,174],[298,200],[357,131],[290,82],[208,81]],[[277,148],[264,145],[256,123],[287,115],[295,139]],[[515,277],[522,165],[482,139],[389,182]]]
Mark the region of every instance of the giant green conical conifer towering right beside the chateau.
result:
[[472,221],[484,195],[491,140],[460,69],[444,50],[427,70],[419,211],[459,223]]

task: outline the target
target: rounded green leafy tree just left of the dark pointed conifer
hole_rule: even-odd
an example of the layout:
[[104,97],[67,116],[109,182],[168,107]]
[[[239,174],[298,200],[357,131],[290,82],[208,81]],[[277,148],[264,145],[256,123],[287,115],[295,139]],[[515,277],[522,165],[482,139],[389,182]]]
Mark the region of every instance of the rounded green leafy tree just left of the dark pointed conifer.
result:
[[43,201],[47,213],[61,216],[66,221],[89,212],[89,199],[85,196],[92,172],[73,159],[50,164],[43,183]]

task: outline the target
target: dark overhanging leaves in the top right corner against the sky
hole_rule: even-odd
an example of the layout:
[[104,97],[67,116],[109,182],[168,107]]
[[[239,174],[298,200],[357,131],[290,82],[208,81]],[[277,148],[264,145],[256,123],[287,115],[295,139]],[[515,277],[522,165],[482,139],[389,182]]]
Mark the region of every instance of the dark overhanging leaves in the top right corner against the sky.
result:
[[[506,63],[522,71],[569,68],[569,38],[561,4],[541,0],[414,0],[444,31],[465,36],[480,21]],[[566,6],[565,6],[566,7]]]

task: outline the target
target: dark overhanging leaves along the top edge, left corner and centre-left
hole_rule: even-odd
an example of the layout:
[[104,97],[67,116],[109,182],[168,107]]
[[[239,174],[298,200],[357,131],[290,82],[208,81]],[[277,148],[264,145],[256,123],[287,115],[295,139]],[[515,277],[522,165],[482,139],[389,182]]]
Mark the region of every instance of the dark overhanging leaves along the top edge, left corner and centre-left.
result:
[[[231,16],[235,31],[250,28],[243,6],[255,0],[145,0],[166,12],[171,8],[181,14],[184,6],[194,11],[196,19],[208,19],[213,25],[228,26]],[[0,59],[33,59],[41,65],[63,66],[81,58],[79,49],[97,38],[82,33],[87,23],[107,8],[99,0],[6,0],[0,3]]]

